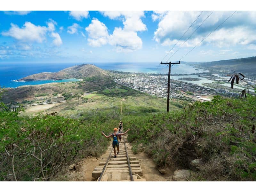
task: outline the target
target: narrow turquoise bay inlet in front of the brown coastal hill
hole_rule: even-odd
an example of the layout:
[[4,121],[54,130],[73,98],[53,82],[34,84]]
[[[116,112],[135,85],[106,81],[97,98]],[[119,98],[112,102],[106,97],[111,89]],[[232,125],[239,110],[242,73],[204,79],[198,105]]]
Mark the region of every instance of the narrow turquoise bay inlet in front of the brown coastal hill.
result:
[[61,83],[61,82],[76,82],[80,81],[79,79],[61,79],[61,80],[38,80],[38,81],[17,81],[13,80],[9,83],[11,88],[16,88],[22,85],[40,85],[46,83]]

